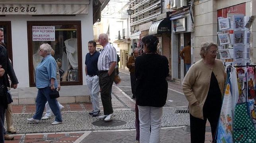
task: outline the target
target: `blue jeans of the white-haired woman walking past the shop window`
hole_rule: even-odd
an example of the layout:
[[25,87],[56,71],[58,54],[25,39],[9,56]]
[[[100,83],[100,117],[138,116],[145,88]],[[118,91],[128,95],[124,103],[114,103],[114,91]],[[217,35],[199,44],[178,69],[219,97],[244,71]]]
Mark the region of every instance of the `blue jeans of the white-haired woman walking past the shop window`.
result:
[[51,99],[49,93],[51,92],[50,87],[39,88],[37,92],[36,99],[36,112],[33,116],[33,119],[41,120],[43,112],[45,110],[45,103],[48,101],[50,109],[52,109],[53,114],[55,115],[55,121],[62,122],[62,117],[60,113],[60,108],[56,98]]

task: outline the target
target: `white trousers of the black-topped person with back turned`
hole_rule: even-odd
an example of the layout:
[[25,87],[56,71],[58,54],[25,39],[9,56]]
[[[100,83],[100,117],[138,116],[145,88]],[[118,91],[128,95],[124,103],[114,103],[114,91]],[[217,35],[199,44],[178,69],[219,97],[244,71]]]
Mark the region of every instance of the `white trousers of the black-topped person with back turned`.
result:
[[160,127],[163,107],[138,105],[138,109],[140,120],[140,143],[160,143]]

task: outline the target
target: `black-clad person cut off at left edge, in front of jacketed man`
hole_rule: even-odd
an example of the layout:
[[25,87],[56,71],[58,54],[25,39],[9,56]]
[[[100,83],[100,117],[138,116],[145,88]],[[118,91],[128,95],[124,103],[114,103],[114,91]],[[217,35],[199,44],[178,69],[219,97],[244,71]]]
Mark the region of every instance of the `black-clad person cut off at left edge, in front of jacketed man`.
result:
[[7,108],[7,57],[0,54],[0,143],[4,143],[4,112]]

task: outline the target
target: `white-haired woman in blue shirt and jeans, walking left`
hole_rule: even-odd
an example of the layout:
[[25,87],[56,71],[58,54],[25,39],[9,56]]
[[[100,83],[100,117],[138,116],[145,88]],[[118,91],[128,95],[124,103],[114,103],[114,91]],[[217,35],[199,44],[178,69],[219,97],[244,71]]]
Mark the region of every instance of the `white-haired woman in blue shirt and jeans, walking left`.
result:
[[38,88],[36,98],[36,113],[31,119],[27,119],[30,123],[39,123],[45,109],[45,103],[48,101],[50,109],[55,115],[55,121],[52,125],[61,124],[62,117],[56,98],[50,98],[50,92],[58,87],[56,80],[56,62],[51,55],[52,48],[49,44],[43,43],[39,48],[39,55],[43,60],[36,68],[35,79]]

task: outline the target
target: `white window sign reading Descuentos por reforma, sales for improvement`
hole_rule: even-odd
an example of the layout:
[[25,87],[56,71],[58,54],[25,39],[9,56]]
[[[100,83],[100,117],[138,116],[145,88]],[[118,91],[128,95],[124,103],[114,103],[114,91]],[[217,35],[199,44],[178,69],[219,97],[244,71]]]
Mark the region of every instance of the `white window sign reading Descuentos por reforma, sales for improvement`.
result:
[[55,41],[55,26],[32,26],[32,41]]

